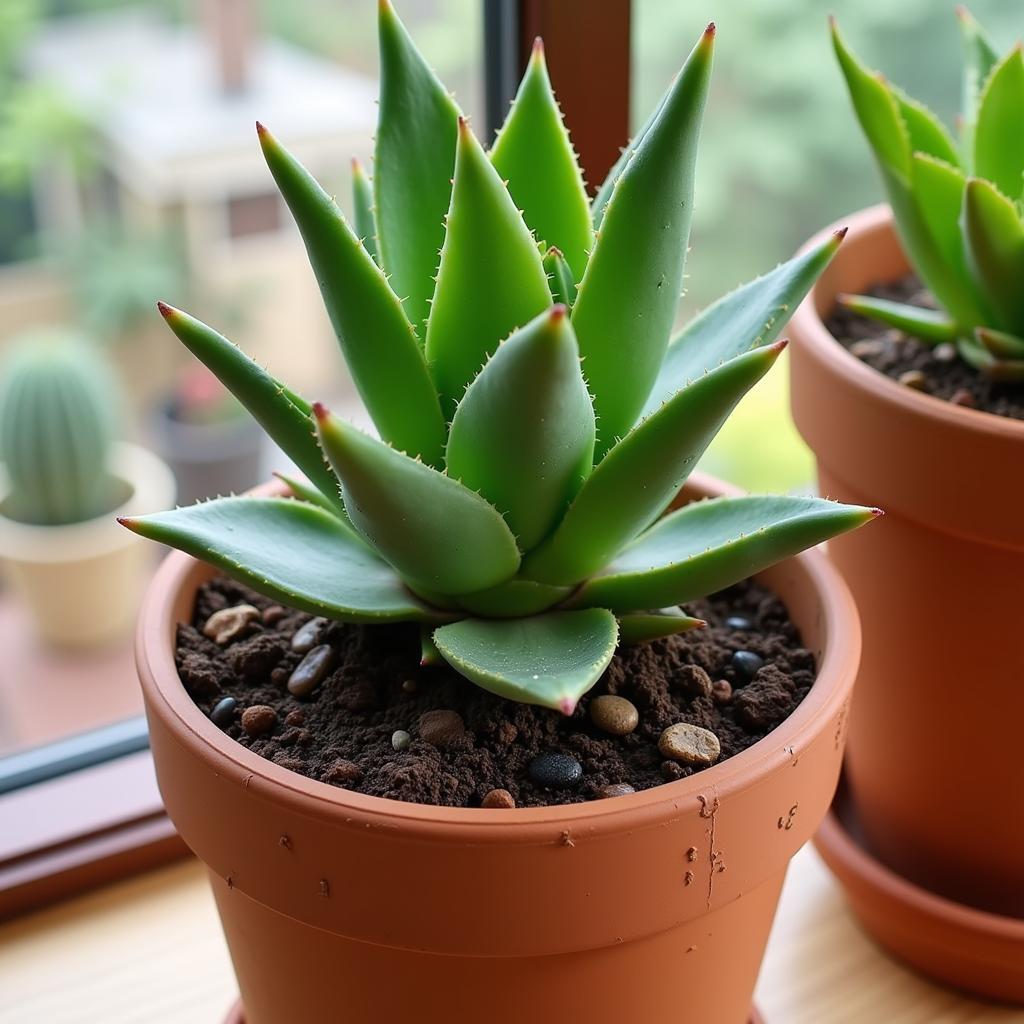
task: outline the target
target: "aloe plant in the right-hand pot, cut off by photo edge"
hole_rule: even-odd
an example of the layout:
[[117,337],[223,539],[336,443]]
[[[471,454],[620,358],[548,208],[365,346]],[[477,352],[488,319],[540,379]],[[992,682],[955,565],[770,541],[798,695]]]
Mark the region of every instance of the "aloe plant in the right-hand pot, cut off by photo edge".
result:
[[833,42],[900,240],[940,310],[869,296],[846,306],[929,344],[950,342],[982,374],[1024,381],[1024,55],[999,57],[957,8],[965,41],[954,138],[923,103]]

